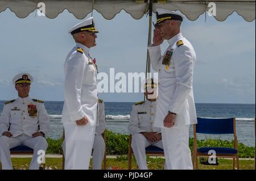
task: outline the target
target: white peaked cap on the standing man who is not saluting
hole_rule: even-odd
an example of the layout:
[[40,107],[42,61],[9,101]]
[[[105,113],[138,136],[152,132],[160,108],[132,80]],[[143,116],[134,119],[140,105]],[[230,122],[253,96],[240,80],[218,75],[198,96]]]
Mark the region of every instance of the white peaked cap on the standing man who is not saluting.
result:
[[94,27],[93,17],[90,17],[82,21],[81,23],[76,24],[75,26],[70,28],[68,32],[73,35],[82,31],[98,33],[98,30]]

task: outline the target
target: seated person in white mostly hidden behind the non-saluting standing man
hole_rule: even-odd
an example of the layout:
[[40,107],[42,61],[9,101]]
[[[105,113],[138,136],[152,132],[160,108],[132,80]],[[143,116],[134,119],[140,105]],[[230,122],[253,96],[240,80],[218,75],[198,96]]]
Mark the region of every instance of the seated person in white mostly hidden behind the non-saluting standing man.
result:
[[101,163],[105,154],[105,141],[102,137],[106,129],[105,122],[105,105],[103,100],[98,100],[98,125],[95,130],[94,142],[93,142],[93,170],[101,170]]

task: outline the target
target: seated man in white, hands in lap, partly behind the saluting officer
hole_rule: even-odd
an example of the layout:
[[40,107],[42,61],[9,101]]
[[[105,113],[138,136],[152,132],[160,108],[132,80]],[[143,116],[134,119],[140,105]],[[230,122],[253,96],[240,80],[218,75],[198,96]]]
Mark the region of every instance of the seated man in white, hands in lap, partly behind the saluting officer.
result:
[[[163,149],[160,128],[154,128],[157,85],[150,79],[145,85],[146,101],[133,105],[128,131],[132,135],[131,148],[139,169],[147,170],[146,148],[150,145]],[[150,92],[150,93],[149,93]]]

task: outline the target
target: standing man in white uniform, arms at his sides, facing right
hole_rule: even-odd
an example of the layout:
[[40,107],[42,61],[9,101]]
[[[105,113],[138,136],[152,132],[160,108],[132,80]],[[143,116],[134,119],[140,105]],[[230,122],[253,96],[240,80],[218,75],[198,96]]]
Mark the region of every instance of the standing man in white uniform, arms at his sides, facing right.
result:
[[90,57],[96,46],[93,17],[69,30],[76,42],[64,64],[65,169],[89,169],[98,120],[97,66]]

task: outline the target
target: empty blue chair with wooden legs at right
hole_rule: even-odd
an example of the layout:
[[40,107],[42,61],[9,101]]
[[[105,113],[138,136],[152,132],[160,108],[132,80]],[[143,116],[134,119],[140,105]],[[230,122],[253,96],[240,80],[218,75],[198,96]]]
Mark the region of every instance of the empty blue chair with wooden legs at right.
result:
[[[197,158],[209,157],[210,150],[216,153],[216,157],[221,158],[233,158],[233,169],[237,163],[237,169],[239,170],[239,158],[238,158],[238,144],[236,136],[236,119],[208,119],[197,117],[197,124],[193,125],[194,132],[194,146],[193,146],[193,165],[195,169],[198,169]],[[234,135],[234,148],[215,148],[215,147],[202,147],[197,148],[196,133],[201,134],[233,134]]]

